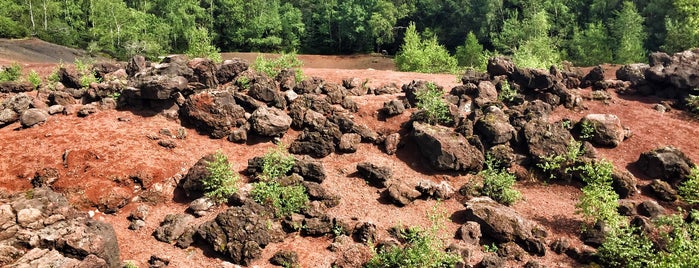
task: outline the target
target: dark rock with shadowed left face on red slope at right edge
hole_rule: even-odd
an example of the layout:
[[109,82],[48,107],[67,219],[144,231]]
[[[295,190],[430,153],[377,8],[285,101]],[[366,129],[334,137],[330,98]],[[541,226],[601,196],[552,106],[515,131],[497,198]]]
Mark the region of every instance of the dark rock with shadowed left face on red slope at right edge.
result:
[[679,149],[666,146],[641,153],[636,166],[648,177],[676,184],[687,179],[695,165]]

